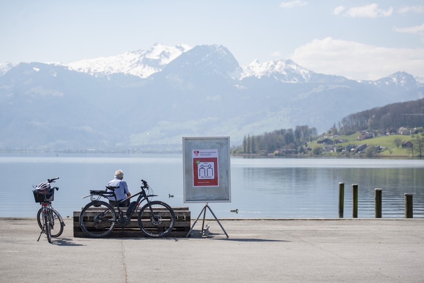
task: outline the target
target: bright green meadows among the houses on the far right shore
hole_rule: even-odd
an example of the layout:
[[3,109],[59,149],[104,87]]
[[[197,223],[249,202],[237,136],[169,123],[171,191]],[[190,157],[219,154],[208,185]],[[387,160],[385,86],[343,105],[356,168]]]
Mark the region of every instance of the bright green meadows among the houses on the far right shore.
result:
[[[330,140],[346,140],[347,142],[338,143],[337,146],[345,146],[349,144],[359,145],[366,143],[368,146],[375,145],[375,146],[382,146],[385,149],[379,154],[380,156],[384,157],[412,157],[412,154],[410,150],[407,148],[402,148],[402,145],[397,148],[397,145],[395,143],[395,139],[401,139],[402,142],[411,140],[411,136],[405,136],[405,135],[390,135],[390,136],[383,136],[383,137],[376,137],[373,139],[366,139],[359,141],[357,138],[360,136],[360,132],[356,132],[353,135],[350,136],[339,136],[337,138],[329,138]],[[318,144],[317,141],[312,141],[309,143],[310,148],[315,148],[317,146],[321,146]],[[330,156],[338,156],[338,153],[324,153],[324,155],[330,155]]]

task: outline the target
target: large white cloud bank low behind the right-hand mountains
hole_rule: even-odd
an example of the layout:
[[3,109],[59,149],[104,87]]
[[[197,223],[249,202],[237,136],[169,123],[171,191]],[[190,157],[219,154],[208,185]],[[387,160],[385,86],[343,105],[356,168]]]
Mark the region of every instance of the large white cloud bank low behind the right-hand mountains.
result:
[[289,59],[314,72],[355,80],[376,80],[397,71],[424,77],[423,48],[386,48],[327,37],[298,47]]

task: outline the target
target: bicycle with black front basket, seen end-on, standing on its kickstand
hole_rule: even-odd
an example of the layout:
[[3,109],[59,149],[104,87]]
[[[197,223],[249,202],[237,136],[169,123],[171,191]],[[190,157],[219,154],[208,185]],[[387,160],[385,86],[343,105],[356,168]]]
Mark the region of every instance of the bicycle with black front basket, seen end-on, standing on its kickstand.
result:
[[[50,184],[54,183],[54,180],[58,178],[59,177],[47,179],[47,182],[39,183],[35,187],[33,186],[35,189],[33,190],[34,200],[41,204],[41,208],[37,212],[37,222],[41,229],[37,242],[44,232],[47,235],[47,241],[51,243],[51,238],[59,237],[65,226],[65,222],[60,213],[51,206],[51,202],[54,200],[54,190],[58,191],[59,188],[51,188]],[[56,225],[54,225],[55,223]]]

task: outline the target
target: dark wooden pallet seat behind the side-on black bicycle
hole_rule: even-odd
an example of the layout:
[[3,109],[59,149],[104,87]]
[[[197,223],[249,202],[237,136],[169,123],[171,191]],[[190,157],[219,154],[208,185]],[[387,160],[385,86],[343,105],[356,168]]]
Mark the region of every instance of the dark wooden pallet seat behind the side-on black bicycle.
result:
[[[93,211],[99,211],[102,208],[92,208]],[[186,237],[188,231],[190,230],[190,211],[188,207],[172,207],[175,213],[175,225],[172,231],[167,235],[167,237]],[[126,208],[121,208],[124,212]],[[108,238],[116,238],[116,237],[146,237],[146,235],[140,230],[138,227],[138,212],[140,209],[138,208],[136,212],[131,216],[131,221],[125,225],[122,233],[122,226],[116,225],[114,230],[107,236]],[[80,218],[81,211],[74,211],[73,219],[74,219],[74,237],[87,237],[83,230],[80,227]]]

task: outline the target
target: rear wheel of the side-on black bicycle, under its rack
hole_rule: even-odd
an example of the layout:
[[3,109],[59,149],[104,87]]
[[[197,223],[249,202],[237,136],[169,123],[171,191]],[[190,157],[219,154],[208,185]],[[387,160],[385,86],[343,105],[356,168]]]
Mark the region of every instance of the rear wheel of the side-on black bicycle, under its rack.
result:
[[[99,209],[100,206],[105,208]],[[113,231],[116,213],[110,204],[101,200],[88,203],[81,211],[79,222],[83,232],[92,238],[102,238]]]

